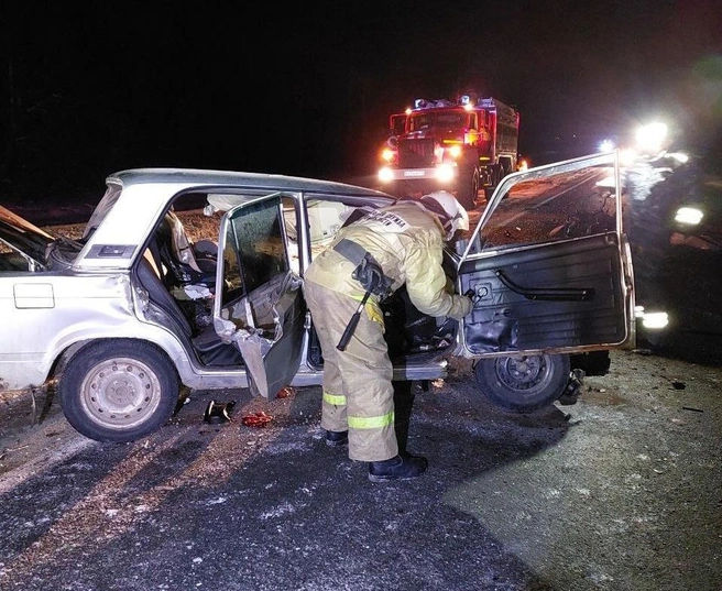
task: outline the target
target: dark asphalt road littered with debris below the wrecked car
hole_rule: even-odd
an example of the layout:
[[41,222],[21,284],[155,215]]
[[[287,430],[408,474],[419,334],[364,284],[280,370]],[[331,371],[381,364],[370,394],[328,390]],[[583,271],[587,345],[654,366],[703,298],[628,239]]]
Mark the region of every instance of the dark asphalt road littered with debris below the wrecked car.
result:
[[[325,445],[318,387],[216,394],[237,401],[219,425],[193,392],[129,445],[83,438],[41,396],[12,444],[26,461],[2,455],[0,589],[722,589],[720,369],[616,352],[576,405],[528,415],[452,369],[416,385],[428,472],[385,484]],[[265,427],[242,423],[259,412]]]

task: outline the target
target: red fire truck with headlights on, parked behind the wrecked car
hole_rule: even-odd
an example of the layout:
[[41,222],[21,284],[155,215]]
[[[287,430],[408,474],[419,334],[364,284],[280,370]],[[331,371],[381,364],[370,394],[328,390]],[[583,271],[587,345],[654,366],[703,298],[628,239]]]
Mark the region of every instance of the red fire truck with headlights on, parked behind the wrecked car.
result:
[[494,98],[417,99],[389,128],[379,180],[400,197],[446,189],[473,209],[517,169],[519,114]]

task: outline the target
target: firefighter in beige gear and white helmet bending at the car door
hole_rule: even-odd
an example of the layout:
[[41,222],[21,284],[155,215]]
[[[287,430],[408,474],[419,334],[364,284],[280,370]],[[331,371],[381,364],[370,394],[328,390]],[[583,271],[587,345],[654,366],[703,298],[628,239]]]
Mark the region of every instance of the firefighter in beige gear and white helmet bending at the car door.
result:
[[[306,271],[305,297],[324,354],[326,442],[348,442],[349,458],[369,462],[374,482],[419,477],[428,466],[426,458],[400,450],[379,303],[405,284],[423,314],[457,319],[469,314],[471,299],[448,291],[441,267],[444,241],[460,229],[469,229],[469,216],[446,191],[361,208]],[[354,314],[358,325],[347,330]]]

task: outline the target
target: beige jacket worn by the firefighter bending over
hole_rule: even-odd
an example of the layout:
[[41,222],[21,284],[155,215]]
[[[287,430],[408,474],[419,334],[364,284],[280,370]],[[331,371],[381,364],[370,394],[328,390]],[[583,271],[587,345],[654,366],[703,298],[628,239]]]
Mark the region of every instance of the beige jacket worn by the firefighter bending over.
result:
[[392,280],[392,292],[406,284],[412,303],[423,314],[460,319],[471,311],[468,297],[450,293],[441,267],[444,228],[438,217],[420,204],[402,201],[365,210],[360,219],[339,230],[331,247],[318,254],[306,271],[306,281],[361,299],[364,288],[352,277],[355,265],[333,250],[343,239],[373,256]]

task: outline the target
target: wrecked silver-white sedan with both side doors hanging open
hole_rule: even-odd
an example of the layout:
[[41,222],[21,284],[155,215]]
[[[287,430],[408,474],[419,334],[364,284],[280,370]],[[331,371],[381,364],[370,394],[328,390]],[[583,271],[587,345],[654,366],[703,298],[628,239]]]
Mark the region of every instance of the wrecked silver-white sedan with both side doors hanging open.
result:
[[[507,176],[445,253],[473,311],[425,317],[403,289],[383,303],[394,377],[440,377],[462,355],[483,394],[530,411],[562,394],[572,355],[633,347],[619,178],[614,153]],[[393,200],[308,178],[146,168],[108,177],[77,241],[0,208],[0,390],[57,380],[78,431],[131,441],[172,417],[182,385],[274,397],[320,384],[304,271],[353,209]],[[565,227],[602,205],[603,223]],[[178,216],[198,209],[217,229],[194,242]]]

